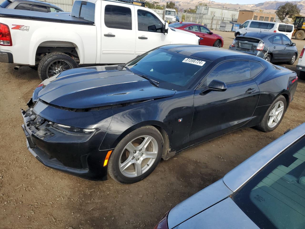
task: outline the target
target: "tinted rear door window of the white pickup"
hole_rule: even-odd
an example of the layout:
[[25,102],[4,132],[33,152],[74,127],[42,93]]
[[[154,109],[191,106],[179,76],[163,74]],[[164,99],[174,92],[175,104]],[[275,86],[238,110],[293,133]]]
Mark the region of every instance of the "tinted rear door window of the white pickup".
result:
[[108,28],[132,29],[131,9],[128,7],[106,5],[104,20]]

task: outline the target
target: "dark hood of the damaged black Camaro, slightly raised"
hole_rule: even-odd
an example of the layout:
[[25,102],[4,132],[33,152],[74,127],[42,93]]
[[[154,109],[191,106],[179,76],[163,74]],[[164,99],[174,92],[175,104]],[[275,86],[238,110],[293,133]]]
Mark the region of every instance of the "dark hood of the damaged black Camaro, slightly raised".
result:
[[37,98],[48,104],[78,109],[157,99],[176,93],[158,88],[130,71],[103,69],[76,68],[48,78],[42,82]]

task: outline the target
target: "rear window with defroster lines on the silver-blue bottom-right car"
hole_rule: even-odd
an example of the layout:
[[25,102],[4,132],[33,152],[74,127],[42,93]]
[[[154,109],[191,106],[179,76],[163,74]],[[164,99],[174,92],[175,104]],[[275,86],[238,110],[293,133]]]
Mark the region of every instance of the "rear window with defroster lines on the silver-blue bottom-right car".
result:
[[305,136],[257,173],[232,199],[260,228],[305,228]]

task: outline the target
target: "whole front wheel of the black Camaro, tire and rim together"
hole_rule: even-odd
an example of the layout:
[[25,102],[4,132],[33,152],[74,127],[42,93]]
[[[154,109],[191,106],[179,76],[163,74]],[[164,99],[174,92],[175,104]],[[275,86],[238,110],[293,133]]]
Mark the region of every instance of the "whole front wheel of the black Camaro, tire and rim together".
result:
[[163,152],[163,137],[153,126],[143,126],[127,134],[113,150],[108,174],[120,183],[143,180],[156,168]]

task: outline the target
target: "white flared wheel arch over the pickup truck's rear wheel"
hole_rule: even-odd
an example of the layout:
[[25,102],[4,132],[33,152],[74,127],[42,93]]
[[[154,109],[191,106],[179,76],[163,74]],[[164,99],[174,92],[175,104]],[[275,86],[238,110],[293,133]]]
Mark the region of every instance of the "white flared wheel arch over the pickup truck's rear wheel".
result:
[[79,56],[80,64],[84,63],[84,44],[79,34],[69,29],[63,33],[63,31],[58,31],[56,28],[42,27],[35,30],[31,37],[28,56],[30,65],[35,65],[35,56],[38,46],[42,42],[52,41],[73,43],[76,46],[75,48]]

